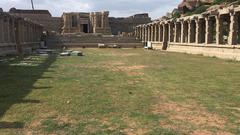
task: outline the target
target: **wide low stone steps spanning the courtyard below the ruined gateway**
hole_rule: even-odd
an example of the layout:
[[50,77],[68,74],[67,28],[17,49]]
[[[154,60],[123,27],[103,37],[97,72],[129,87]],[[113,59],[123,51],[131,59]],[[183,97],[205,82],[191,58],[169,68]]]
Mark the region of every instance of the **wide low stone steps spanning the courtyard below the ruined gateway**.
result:
[[98,44],[118,45],[122,48],[142,48],[143,44],[135,37],[122,37],[112,35],[52,35],[47,39],[49,48],[59,47],[87,47],[96,48]]

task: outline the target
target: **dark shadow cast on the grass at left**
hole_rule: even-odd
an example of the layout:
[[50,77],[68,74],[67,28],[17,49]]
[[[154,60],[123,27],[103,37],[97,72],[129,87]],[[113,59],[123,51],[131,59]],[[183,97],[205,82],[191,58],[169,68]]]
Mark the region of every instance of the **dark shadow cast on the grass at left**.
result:
[[28,56],[23,58],[5,58],[0,62],[0,129],[23,128],[22,122],[1,121],[4,114],[14,104],[38,104],[37,99],[24,99],[33,89],[41,90],[48,87],[34,87],[38,79],[56,60],[57,56]]

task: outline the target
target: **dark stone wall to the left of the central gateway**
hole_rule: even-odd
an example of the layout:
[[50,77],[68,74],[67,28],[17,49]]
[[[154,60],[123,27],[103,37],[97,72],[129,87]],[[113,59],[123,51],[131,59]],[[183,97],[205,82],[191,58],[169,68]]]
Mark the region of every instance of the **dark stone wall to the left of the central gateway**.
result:
[[18,17],[28,18],[35,23],[41,24],[44,26],[44,30],[48,32],[61,31],[62,18],[52,17],[48,10],[22,10],[11,8],[9,13]]

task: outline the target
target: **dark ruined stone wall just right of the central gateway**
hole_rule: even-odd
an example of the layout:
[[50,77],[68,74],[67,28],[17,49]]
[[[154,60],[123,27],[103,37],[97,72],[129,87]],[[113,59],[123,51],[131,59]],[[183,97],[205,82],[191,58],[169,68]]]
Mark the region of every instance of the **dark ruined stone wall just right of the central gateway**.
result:
[[151,22],[151,18],[147,13],[136,14],[126,18],[109,18],[110,27],[113,35],[118,35],[121,33],[133,32],[135,27],[140,24],[145,24]]

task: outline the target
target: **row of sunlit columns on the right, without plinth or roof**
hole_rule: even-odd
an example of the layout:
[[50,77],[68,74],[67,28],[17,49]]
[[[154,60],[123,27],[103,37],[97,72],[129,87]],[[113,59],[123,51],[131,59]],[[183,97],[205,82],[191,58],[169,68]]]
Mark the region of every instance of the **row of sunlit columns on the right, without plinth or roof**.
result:
[[137,26],[135,36],[143,42],[237,45],[239,14],[229,12],[153,22]]

